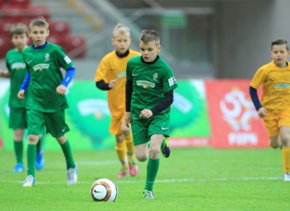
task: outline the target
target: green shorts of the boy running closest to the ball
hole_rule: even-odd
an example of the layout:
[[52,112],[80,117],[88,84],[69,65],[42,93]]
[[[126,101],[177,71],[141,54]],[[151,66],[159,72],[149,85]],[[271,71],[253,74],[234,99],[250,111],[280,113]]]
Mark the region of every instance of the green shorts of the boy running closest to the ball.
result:
[[132,118],[132,134],[134,146],[150,141],[150,136],[163,134],[169,137],[169,114],[157,114],[149,119]]

